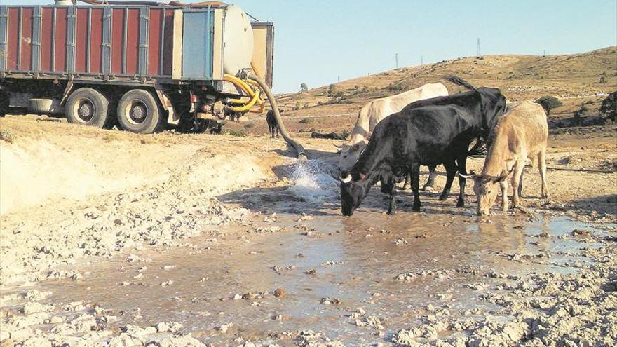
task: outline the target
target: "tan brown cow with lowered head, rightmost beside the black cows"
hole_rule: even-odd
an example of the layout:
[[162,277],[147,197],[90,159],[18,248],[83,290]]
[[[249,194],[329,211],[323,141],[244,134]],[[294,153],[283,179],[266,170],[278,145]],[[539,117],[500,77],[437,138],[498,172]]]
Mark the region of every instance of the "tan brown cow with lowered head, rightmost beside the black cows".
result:
[[477,196],[477,215],[489,215],[497,197],[497,187],[501,187],[501,209],[508,210],[508,184],[506,178],[513,172],[512,205],[519,205],[522,193],[523,169],[525,160],[538,163],[542,181],[542,198],[548,198],[546,183],[546,146],[548,142],[548,122],[546,107],[534,102],[521,102],[499,118],[491,130],[491,147],[484,161],[480,175],[461,175],[472,178],[473,191]]

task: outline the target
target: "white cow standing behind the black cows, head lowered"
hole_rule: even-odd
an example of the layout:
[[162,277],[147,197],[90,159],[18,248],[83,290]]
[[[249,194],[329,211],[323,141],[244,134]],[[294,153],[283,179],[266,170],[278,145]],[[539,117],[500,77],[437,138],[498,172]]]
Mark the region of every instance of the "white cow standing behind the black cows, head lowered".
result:
[[[381,99],[375,99],[366,104],[360,109],[358,121],[355,122],[353,131],[351,132],[351,139],[346,144],[343,144],[342,147],[339,147],[341,149],[339,170],[351,170],[369,142],[369,137],[375,125],[381,120],[391,114],[399,112],[412,102],[447,95],[448,90],[442,83],[427,83],[419,88],[408,90],[405,93],[382,97]],[[433,186],[434,172],[435,167],[431,167],[426,186]],[[407,182],[405,182],[405,184],[407,184]]]

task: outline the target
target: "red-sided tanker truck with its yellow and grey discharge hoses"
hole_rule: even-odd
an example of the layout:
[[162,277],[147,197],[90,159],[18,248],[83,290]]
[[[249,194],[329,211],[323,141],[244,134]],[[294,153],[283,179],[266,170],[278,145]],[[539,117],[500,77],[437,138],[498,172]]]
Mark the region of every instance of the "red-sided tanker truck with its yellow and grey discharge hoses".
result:
[[266,97],[278,113],[272,23],[220,1],[81,3],[0,4],[0,116],[64,115],[147,134],[220,132],[263,113]]

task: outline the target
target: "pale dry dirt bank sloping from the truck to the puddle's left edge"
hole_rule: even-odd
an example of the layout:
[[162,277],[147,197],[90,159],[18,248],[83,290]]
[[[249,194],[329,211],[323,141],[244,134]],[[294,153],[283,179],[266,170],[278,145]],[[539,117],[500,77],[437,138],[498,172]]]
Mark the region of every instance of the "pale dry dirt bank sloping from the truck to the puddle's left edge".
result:
[[[111,255],[140,243],[173,243],[204,215],[219,223],[241,211],[216,196],[276,179],[285,160],[271,143],[234,137],[136,136],[32,119],[3,119],[1,282],[53,275],[50,267]],[[117,233],[110,233],[118,229]],[[75,247],[77,245],[77,247]],[[20,259],[20,260],[18,260]]]

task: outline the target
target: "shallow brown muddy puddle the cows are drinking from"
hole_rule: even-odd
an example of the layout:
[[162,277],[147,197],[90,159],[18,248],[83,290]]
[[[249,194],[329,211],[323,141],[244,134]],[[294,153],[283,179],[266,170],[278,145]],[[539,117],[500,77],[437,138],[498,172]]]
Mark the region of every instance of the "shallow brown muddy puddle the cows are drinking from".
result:
[[[588,261],[581,250],[598,245],[571,231],[603,233],[565,217],[477,221],[473,197],[459,209],[454,196],[440,203],[436,193],[424,195],[419,213],[410,211],[409,193],[402,193],[398,214],[388,216],[378,189],[353,217],[343,217],[336,182],[323,172],[317,177],[302,182],[299,175],[290,188],[221,197],[264,212],[244,225],[212,227],[182,247],[144,247],[82,262],[71,267],[84,273],[82,279],[34,288],[53,292],[48,301],[55,303],[83,300],[107,308],[118,326],[181,322],[183,332],[215,346],[237,336],[269,341],[299,329],[369,346],[408,328],[428,305],[470,318],[496,311],[478,298],[483,288],[531,272],[576,271],[578,262]],[[274,295],[278,288],[284,295]],[[350,315],[358,308],[381,319],[385,329],[356,325]],[[216,329],[229,322],[229,331]]]

